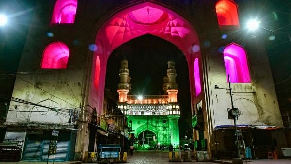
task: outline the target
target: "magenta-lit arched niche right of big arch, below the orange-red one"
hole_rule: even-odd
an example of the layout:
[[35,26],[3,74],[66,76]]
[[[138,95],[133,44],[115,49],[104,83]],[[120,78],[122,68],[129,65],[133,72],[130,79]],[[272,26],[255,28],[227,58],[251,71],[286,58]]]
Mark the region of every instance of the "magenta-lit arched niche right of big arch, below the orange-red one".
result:
[[246,51],[242,46],[236,43],[227,45],[223,51],[223,56],[226,66],[226,77],[229,74],[230,82],[251,82]]

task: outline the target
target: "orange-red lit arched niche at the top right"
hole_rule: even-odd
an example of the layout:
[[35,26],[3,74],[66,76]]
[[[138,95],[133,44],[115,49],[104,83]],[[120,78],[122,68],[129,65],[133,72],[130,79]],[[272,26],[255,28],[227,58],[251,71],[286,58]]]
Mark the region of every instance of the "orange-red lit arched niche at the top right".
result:
[[219,27],[239,27],[239,16],[237,4],[232,0],[219,0],[216,5],[216,15]]

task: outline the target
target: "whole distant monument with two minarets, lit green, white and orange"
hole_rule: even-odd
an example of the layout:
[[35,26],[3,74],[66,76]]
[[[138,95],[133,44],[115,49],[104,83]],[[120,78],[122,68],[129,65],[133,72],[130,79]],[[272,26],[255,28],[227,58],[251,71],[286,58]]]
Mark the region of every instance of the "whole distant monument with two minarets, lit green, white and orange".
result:
[[118,108],[127,116],[128,125],[141,146],[179,144],[180,106],[176,75],[175,62],[168,61],[167,76],[163,78],[165,95],[146,95],[143,98],[127,95],[131,89],[128,61],[121,61]]

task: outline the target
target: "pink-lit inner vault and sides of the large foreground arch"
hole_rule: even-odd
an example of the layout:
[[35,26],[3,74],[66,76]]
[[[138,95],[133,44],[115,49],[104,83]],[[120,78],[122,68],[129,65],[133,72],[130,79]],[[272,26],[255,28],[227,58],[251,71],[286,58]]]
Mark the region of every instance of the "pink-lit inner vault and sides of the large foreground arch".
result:
[[[194,60],[198,58],[199,66],[202,66],[202,60],[198,34],[193,25],[172,10],[158,4],[144,2],[116,13],[97,32],[95,39],[97,49],[94,49],[92,82],[88,103],[92,107],[97,107],[99,113],[101,113],[103,105],[108,57],[120,45],[145,34],[151,34],[169,41],[182,51],[189,70],[192,104],[195,103],[194,101],[199,102],[201,100],[202,92],[197,96],[195,94]],[[96,62],[96,59],[99,61]],[[96,63],[98,63],[98,66]],[[202,68],[199,69],[200,82],[203,84],[201,70]],[[99,72],[99,75],[96,75],[96,71]],[[203,91],[203,86],[200,87]]]

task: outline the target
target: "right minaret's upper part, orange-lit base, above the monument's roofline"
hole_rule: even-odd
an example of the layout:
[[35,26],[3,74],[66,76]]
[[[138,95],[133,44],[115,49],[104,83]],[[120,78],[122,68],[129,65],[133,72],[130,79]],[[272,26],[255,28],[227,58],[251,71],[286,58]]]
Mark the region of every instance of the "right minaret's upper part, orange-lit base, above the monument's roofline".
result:
[[175,62],[168,61],[168,69],[167,69],[167,76],[163,78],[164,84],[163,89],[169,95],[169,103],[171,102],[178,102],[177,101],[177,93],[178,93],[178,84],[176,83],[176,69],[175,69]]

